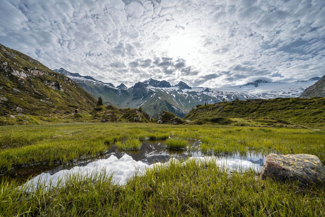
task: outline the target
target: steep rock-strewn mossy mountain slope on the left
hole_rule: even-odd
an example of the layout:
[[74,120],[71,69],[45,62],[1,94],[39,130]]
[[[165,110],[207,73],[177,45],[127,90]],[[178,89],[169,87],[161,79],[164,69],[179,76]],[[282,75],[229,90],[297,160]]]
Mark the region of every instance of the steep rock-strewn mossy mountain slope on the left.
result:
[[0,44],[0,115],[62,115],[73,107],[91,110],[95,102],[72,79]]

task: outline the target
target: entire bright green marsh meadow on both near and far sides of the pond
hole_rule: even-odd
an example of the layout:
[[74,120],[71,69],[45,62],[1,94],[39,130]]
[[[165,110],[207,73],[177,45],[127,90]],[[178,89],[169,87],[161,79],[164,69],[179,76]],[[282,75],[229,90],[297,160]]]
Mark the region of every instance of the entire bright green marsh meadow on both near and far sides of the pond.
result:
[[[139,139],[168,138],[174,145],[199,139],[190,151],[233,155],[271,152],[312,154],[325,163],[325,130],[224,125],[157,125],[142,123],[68,123],[3,126],[0,168],[34,162],[62,163],[96,155],[107,145],[133,149]],[[148,136],[149,135],[149,136]],[[122,138],[128,138],[122,142]],[[6,144],[4,146],[3,144]],[[138,147],[138,146],[137,146]],[[178,146],[180,147],[180,146]],[[170,155],[180,154],[168,149]],[[182,151],[182,149],[181,149]],[[187,151],[183,149],[183,151]],[[5,172],[5,171],[2,171]],[[325,186],[299,188],[297,183],[260,180],[253,170],[229,173],[214,161],[174,161],[137,174],[125,185],[109,174],[72,175],[50,191],[39,185],[26,194],[19,180],[1,180],[1,216],[322,216]],[[154,213],[154,214],[152,214]]]

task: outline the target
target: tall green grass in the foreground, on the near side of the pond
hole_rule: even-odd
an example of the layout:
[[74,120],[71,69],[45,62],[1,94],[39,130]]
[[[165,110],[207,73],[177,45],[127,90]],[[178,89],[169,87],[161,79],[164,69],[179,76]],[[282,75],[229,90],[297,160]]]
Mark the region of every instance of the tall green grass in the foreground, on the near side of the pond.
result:
[[[299,188],[232,172],[214,161],[171,161],[125,185],[108,174],[72,175],[62,186],[40,185],[26,194],[18,183],[0,184],[2,216],[324,216],[325,186]],[[60,183],[61,184],[61,183]]]

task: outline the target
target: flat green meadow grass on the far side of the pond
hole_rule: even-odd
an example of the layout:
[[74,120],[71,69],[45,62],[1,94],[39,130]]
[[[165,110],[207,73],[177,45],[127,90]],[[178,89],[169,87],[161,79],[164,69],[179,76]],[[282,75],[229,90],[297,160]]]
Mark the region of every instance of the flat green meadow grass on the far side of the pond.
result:
[[[67,162],[96,155],[122,138],[201,140],[200,150],[212,154],[311,154],[325,163],[324,129],[157,125],[141,123],[68,123],[0,127],[0,170],[35,162]],[[167,139],[169,141],[170,139]],[[198,148],[190,148],[197,150]]]

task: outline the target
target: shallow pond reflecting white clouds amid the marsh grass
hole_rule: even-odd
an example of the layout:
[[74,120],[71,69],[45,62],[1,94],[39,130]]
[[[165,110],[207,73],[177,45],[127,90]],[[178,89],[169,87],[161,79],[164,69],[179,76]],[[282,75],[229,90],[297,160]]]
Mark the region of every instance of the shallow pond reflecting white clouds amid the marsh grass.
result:
[[[170,159],[185,161],[190,158],[196,160],[214,159],[220,167],[228,167],[230,170],[252,168],[260,171],[264,164],[264,155],[240,156],[237,154],[228,156],[206,155],[200,151],[184,150],[169,150],[165,146],[165,140],[143,140],[140,150],[120,150],[114,144],[108,145],[105,153],[99,154],[96,157],[80,158],[73,162],[65,164],[54,163],[35,164],[24,167],[16,167],[11,171],[1,174],[1,178],[19,178],[28,180],[27,183],[36,185],[37,183],[52,183],[57,180],[67,177],[70,174],[81,173],[91,174],[92,172],[106,171],[113,172],[113,180],[117,183],[125,183],[126,180],[135,171],[139,172],[150,168],[155,163],[166,163]],[[200,146],[199,140],[188,140],[189,147],[198,149]]]

